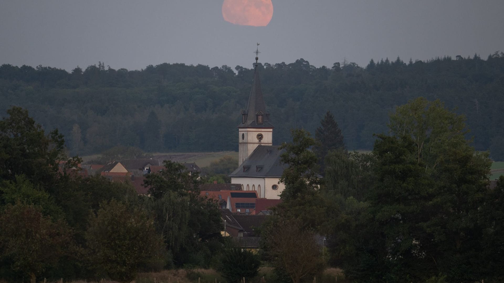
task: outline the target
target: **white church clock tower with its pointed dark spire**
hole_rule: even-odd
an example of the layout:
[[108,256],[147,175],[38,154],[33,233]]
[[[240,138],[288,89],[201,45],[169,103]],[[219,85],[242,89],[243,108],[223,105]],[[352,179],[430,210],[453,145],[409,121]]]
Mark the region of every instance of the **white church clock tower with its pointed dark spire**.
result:
[[269,122],[270,113],[266,111],[266,104],[264,103],[263,92],[261,90],[261,82],[259,81],[258,53],[259,50],[256,50],[254,80],[252,81],[247,106],[245,110],[241,111],[241,123],[238,125],[239,165],[241,165],[259,145],[273,145],[274,127]]

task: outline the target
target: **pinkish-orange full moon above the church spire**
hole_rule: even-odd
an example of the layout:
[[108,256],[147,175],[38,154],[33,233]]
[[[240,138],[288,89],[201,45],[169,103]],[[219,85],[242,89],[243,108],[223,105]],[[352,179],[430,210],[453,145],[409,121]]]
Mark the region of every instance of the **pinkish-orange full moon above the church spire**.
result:
[[273,17],[271,0],[224,0],[222,17],[241,26],[265,27]]

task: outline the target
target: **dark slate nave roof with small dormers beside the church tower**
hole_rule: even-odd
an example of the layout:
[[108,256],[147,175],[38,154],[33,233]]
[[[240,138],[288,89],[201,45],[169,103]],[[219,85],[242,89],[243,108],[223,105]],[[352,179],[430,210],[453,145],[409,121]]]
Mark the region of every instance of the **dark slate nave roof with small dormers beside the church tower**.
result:
[[281,164],[280,155],[285,150],[278,146],[259,145],[229,177],[275,177],[280,178],[287,164]]

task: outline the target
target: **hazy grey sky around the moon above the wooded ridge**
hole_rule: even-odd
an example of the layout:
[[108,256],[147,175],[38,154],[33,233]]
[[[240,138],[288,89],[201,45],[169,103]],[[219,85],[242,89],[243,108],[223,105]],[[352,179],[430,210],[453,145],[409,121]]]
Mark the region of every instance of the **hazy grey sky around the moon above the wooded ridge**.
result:
[[[239,1],[239,0],[236,0]],[[67,70],[186,63],[251,67],[304,58],[486,58],[504,51],[503,0],[273,0],[266,27],[225,22],[223,0],[0,0],[0,64]]]

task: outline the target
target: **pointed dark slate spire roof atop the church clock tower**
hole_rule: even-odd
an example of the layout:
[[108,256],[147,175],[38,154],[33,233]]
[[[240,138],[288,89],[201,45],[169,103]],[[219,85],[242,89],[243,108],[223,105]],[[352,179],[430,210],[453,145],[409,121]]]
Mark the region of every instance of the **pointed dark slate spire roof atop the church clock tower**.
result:
[[[274,128],[269,122],[270,114],[266,111],[264,103],[263,90],[261,89],[261,81],[259,80],[258,63],[254,63],[254,79],[250,88],[248,102],[245,110],[241,111],[245,115],[245,122],[240,123],[238,128]],[[256,122],[256,114],[263,112],[263,123]]]

